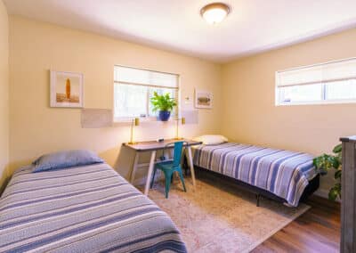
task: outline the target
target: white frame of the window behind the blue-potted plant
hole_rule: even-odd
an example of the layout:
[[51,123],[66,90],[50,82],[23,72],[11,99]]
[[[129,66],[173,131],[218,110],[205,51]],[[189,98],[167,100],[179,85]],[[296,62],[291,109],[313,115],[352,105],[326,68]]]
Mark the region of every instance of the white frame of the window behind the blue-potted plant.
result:
[[[163,72],[163,71],[158,71],[158,70],[152,70],[152,69],[144,69],[144,68],[137,68],[137,67],[131,67],[131,66],[125,66],[125,65],[114,65],[114,71],[115,71],[115,67],[123,67],[123,68],[129,68],[129,69],[141,69],[141,70],[147,70],[147,71],[151,71],[151,72],[157,72],[157,73],[162,73],[162,74],[169,74],[169,75],[174,75],[177,77],[177,87],[168,87],[168,86],[152,86],[152,85],[147,85],[147,84],[140,84],[140,83],[134,83],[134,82],[123,82],[123,81],[116,81],[114,78],[113,81],[113,91],[115,89],[115,85],[116,84],[123,84],[123,85],[132,85],[132,86],[147,86],[147,87],[155,87],[155,88],[165,88],[165,89],[172,89],[175,90],[174,93],[174,98],[175,101],[177,102],[177,106],[176,109],[173,112],[173,115],[171,115],[171,118],[169,120],[173,120],[173,118],[178,117],[179,115],[179,111],[180,111],[180,81],[181,81],[181,76],[179,74],[175,74],[175,73],[169,73],[169,72]],[[115,75],[113,74],[113,77]],[[150,99],[149,99],[149,93],[147,93],[147,104],[146,104],[146,111],[149,112],[149,105],[150,105]],[[120,123],[120,122],[131,122],[131,120],[133,118],[136,117],[115,117],[115,92],[113,92],[113,103],[112,103],[112,108],[113,108],[113,112],[112,112],[112,116],[113,116],[113,121],[114,123]],[[158,121],[157,117],[155,116],[149,116],[149,117],[139,117],[141,121]]]

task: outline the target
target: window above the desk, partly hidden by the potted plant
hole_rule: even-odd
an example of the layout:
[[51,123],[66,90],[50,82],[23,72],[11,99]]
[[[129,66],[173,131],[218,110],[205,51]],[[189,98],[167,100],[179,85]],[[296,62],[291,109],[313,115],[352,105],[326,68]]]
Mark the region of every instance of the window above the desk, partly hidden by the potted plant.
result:
[[115,66],[114,120],[156,117],[150,103],[154,92],[178,100],[178,75]]

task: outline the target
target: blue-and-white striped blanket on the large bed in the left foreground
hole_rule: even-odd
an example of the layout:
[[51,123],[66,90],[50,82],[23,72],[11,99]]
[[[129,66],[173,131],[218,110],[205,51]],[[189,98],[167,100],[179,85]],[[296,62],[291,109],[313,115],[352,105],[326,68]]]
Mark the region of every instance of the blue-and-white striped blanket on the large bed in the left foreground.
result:
[[186,252],[169,216],[107,164],[13,176],[0,252]]

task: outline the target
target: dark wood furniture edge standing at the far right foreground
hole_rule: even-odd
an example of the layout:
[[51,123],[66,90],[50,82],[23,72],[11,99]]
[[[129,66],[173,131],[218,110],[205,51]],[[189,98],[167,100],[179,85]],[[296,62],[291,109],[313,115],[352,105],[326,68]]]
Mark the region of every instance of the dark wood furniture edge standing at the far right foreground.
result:
[[341,252],[356,252],[356,136],[341,138],[343,175],[341,178]]

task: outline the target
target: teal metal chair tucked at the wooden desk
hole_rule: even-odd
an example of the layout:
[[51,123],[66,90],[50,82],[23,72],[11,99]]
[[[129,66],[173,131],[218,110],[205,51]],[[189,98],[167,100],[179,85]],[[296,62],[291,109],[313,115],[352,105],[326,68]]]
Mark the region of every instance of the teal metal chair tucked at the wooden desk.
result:
[[[186,143],[186,142],[176,142],[176,143],[166,144],[165,148],[163,149],[163,156],[161,157],[162,162],[156,164],[155,168],[153,170],[153,175],[152,175],[152,179],[150,182],[150,188],[152,188],[153,183],[155,181],[155,175],[156,175],[157,169],[162,170],[163,173],[165,174],[165,181],[166,181],[166,199],[168,199],[168,192],[169,192],[169,188],[171,187],[171,182],[173,180],[174,171],[178,172],[178,175],[182,181],[184,192],[187,192],[187,189],[185,188],[185,184],[184,184],[184,178],[183,178],[182,166],[181,166],[182,149],[183,149],[184,143]],[[172,148],[174,148],[173,160],[165,161],[166,149],[172,149]]]

